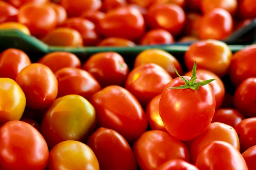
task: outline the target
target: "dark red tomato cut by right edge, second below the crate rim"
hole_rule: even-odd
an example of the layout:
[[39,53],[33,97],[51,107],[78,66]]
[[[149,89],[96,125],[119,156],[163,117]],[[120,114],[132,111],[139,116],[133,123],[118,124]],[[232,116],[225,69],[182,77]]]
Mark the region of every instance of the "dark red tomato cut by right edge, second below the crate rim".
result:
[[234,107],[245,117],[256,117],[256,77],[245,79],[235,89]]

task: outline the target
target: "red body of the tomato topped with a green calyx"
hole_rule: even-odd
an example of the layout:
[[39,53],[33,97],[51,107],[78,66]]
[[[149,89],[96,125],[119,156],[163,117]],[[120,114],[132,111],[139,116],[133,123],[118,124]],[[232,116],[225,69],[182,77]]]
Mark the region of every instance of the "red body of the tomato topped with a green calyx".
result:
[[[189,76],[184,78],[191,79]],[[215,112],[216,100],[209,84],[200,86],[197,91],[170,89],[181,85],[184,81],[180,77],[166,85],[159,102],[159,114],[166,130],[177,139],[186,141],[207,129]]]

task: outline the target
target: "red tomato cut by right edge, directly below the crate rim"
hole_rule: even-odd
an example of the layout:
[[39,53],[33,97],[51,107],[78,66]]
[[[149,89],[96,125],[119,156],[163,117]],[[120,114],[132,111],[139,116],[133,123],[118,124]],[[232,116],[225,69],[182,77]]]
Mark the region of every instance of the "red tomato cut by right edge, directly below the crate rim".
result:
[[240,49],[232,56],[229,68],[229,78],[233,86],[237,87],[243,80],[256,77],[256,44]]

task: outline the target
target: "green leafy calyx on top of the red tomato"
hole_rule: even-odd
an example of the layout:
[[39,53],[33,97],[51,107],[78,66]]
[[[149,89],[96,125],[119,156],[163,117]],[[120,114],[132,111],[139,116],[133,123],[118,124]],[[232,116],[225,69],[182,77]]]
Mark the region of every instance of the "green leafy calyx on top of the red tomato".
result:
[[202,82],[196,82],[196,61],[194,63],[193,69],[192,69],[192,76],[190,80],[187,80],[186,78],[182,77],[179,75],[178,71],[176,68],[173,66],[175,73],[185,82],[184,85],[179,86],[179,87],[170,87],[171,89],[186,89],[186,88],[191,88],[194,91],[197,91],[200,86],[204,86],[206,84],[211,83],[215,79],[208,79],[204,80]]

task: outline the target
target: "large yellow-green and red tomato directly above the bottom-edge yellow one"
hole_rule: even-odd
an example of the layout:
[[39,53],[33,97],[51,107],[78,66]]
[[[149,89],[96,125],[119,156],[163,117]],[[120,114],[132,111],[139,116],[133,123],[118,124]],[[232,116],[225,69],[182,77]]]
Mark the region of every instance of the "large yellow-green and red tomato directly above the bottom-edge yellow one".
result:
[[80,95],[65,95],[54,100],[46,110],[41,131],[49,148],[52,148],[65,140],[85,142],[95,125],[92,104]]

